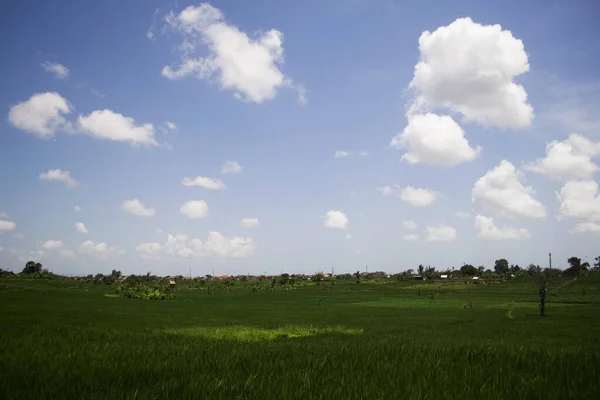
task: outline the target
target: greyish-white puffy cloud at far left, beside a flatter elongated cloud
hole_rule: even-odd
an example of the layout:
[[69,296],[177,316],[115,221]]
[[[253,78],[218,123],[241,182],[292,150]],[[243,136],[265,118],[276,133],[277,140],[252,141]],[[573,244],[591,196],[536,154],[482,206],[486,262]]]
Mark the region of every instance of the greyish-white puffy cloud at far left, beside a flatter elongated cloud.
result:
[[16,104],[8,112],[8,122],[15,128],[49,138],[58,129],[68,129],[63,114],[71,107],[65,98],[56,92],[36,93],[29,100]]

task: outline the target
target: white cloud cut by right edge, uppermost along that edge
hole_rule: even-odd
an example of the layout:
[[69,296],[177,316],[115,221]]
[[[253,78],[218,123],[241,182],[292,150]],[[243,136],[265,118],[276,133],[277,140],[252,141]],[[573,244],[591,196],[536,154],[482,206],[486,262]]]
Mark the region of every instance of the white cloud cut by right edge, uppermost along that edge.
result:
[[526,171],[546,174],[559,180],[590,179],[600,168],[592,157],[600,155],[600,142],[571,134],[564,141],[555,140],[546,146],[546,157],[523,167]]

